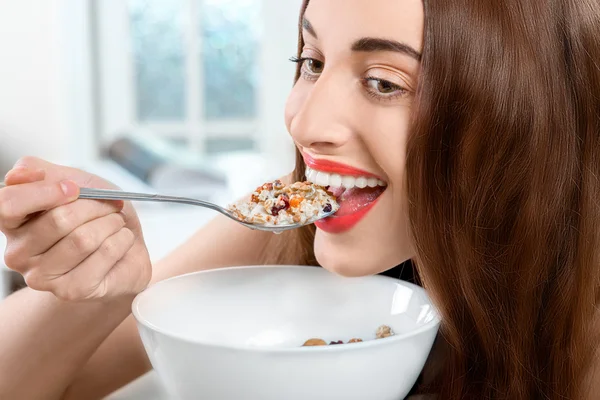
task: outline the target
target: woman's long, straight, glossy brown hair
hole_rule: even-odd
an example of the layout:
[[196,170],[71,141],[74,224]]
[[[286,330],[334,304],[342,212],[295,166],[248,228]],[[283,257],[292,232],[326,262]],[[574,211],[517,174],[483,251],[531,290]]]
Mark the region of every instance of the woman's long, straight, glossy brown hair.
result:
[[[600,4],[423,4],[407,193],[448,346],[438,385],[422,390],[597,397],[585,382],[600,333]],[[313,237],[290,232],[271,255],[314,264]]]

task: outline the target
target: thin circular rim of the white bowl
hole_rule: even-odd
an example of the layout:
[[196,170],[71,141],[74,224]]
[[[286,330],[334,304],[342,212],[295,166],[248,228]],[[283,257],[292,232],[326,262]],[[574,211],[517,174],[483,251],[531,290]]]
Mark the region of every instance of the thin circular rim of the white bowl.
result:
[[[162,281],[153,283],[150,286],[148,286],[145,290],[138,293],[135,296],[135,298],[133,299],[133,302],[131,304],[132,314],[138,324],[141,324],[144,327],[146,327],[147,329],[157,332],[157,333],[159,333],[163,336],[166,336],[170,339],[173,339],[173,340],[178,340],[178,341],[186,342],[188,344],[195,344],[195,345],[200,345],[200,346],[205,346],[205,347],[210,347],[210,348],[217,348],[217,349],[223,349],[223,350],[229,350],[229,351],[232,351],[232,350],[246,351],[246,352],[253,352],[253,353],[254,352],[257,352],[257,353],[319,352],[320,353],[320,352],[360,350],[360,349],[370,348],[370,347],[386,346],[388,344],[391,345],[392,343],[403,341],[405,339],[420,335],[427,331],[430,331],[433,329],[435,329],[437,331],[439,329],[440,322],[441,322],[440,314],[439,314],[437,308],[431,302],[431,298],[429,297],[429,295],[427,294],[427,291],[424,288],[422,288],[421,286],[415,285],[413,283],[403,281],[401,279],[392,278],[392,277],[388,277],[388,276],[384,276],[384,275],[370,275],[370,277],[375,278],[375,279],[380,279],[380,280],[389,280],[389,281],[394,281],[394,282],[400,282],[401,284],[406,285],[406,286],[412,288],[413,290],[421,292],[429,300],[429,304],[432,308],[434,318],[431,321],[424,324],[423,326],[420,326],[418,329],[414,329],[414,330],[411,330],[410,332],[406,332],[406,333],[403,333],[400,335],[394,335],[394,336],[377,339],[377,340],[366,340],[364,342],[358,342],[358,343],[344,343],[344,344],[339,344],[339,345],[335,345],[335,346],[257,347],[257,346],[246,346],[246,345],[226,345],[226,344],[207,343],[202,340],[194,340],[194,339],[190,339],[189,337],[177,335],[175,333],[168,332],[162,328],[159,328],[156,325],[153,325],[150,321],[148,321],[146,318],[144,318],[138,310],[138,306],[139,306],[140,302],[143,300],[143,297],[148,295],[147,293],[149,290],[151,290],[152,288],[154,288],[156,286],[167,284],[168,282],[173,281],[173,280],[185,279],[187,276],[191,276],[191,275],[218,273],[220,271],[226,271],[226,270],[266,269],[266,268],[287,268],[287,269],[318,268],[318,269],[323,269],[324,271],[327,271],[326,269],[324,269],[322,267],[312,266],[312,265],[270,264],[270,265],[247,265],[247,266],[223,267],[223,268],[214,268],[214,269],[208,269],[208,270],[188,272],[186,274],[176,275],[176,276],[173,276],[173,277],[170,277],[167,279],[163,279]],[[327,271],[327,272],[329,272],[329,271]],[[329,272],[329,273],[332,273],[332,272]],[[139,331],[139,328],[138,328],[138,331]],[[433,344],[433,342],[432,342],[432,344]]]

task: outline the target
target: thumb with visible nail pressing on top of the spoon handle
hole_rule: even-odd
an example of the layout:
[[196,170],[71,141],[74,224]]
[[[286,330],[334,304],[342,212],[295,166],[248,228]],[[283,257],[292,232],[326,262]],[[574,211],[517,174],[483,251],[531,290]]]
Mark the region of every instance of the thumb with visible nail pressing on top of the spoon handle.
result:
[[70,203],[78,196],[79,187],[68,180],[7,186],[0,190],[0,229],[16,229],[31,214]]

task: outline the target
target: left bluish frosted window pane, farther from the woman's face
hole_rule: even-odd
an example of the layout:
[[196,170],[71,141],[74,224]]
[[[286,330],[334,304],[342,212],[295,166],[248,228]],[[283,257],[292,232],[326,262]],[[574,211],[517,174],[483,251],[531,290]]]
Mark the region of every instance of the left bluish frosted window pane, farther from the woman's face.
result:
[[129,0],[141,121],[185,118],[183,0]]

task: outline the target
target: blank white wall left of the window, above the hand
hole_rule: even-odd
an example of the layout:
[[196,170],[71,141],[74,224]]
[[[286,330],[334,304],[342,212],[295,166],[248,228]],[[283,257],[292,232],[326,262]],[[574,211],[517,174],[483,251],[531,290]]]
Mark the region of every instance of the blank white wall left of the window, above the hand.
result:
[[87,1],[0,0],[0,171],[89,155]]

